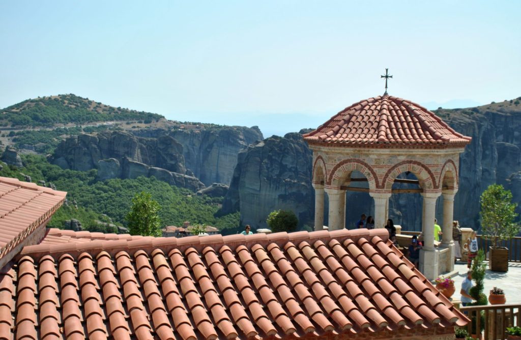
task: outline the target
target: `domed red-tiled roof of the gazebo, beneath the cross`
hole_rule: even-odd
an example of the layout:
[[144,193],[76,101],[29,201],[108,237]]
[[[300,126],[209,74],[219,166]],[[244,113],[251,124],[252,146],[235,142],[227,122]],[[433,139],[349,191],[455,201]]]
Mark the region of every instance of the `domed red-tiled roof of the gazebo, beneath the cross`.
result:
[[304,139],[373,148],[463,147],[471,140],[425,107],[389,95],[346,107]]

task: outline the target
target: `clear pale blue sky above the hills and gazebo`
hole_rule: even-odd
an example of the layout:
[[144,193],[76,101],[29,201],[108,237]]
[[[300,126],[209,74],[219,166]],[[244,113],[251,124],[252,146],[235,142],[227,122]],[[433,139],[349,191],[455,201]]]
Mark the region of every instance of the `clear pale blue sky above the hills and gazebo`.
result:
[[316,127],[389,93],[521,95],[520,1],[0,2],[0,107],[75,93],[170,119]]

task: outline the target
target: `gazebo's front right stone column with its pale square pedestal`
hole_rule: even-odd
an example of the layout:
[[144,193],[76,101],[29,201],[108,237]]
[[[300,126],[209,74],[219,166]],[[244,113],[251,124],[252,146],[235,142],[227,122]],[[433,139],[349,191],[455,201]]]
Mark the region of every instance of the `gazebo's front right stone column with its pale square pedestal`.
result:
[[424,247],[420,251],[420,271],[429,280],[438,276],[438,251],[434,248],[434,218],[436,199],[441,192],[424,192],[423,196],[423,236]]

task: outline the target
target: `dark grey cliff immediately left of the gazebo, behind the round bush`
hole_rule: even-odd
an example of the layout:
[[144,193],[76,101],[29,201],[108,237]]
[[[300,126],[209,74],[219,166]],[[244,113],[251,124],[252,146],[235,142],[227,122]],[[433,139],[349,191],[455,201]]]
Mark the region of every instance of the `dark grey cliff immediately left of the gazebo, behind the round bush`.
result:
[[290,209],[313,217],[312,152],[299,133],[273,136],[239,153],[222,212],[240,210],[241,224],[266,227],[267,215]]

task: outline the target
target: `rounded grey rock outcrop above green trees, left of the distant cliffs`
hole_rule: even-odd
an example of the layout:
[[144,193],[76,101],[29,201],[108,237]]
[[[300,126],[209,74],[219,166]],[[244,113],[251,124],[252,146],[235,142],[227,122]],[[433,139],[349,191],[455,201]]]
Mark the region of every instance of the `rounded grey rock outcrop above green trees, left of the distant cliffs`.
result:
[[187,175],[183,147],[174,138],[143,138],[123,131],[69,137],[56,148],[51,162],[65,169],[98,169],[98,178],[155,176],[194,191],[204,184]]

